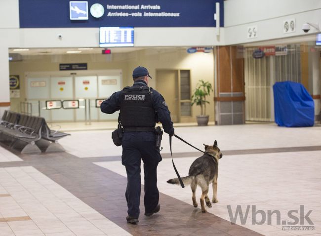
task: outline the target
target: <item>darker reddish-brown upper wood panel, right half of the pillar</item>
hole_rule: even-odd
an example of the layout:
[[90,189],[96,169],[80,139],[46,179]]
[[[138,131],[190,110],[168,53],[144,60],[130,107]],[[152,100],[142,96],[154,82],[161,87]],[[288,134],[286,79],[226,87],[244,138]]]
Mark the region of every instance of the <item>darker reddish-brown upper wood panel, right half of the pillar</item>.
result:
[[232,50],[232,77],[233,92],[244,92],[244,59],[237,58],[236,46],[231,46]]

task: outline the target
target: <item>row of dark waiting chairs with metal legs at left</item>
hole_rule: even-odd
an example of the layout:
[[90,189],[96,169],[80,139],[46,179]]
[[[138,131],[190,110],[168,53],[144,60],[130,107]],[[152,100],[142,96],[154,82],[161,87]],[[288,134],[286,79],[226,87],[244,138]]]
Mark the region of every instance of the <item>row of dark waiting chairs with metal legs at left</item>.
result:
[[57,140],[67,135],[51,130],[42,117],[4,111],[0,119],[0,140],[22,154],[64,151]]

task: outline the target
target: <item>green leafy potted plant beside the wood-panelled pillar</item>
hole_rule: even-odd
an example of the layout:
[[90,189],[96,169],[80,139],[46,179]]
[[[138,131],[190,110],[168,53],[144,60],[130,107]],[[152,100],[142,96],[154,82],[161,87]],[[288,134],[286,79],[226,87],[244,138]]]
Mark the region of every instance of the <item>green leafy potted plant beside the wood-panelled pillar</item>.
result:
[[207,125],[208,123],[208,116],[206,116],[206,103],[209,102],[206,101],[206,96],[209,95],[211,91],[213,91],[212,84],[200,79],[191,98],[192,106],[194,104],[201,106],[201,116],[196,116],[197,123],[200,126]]

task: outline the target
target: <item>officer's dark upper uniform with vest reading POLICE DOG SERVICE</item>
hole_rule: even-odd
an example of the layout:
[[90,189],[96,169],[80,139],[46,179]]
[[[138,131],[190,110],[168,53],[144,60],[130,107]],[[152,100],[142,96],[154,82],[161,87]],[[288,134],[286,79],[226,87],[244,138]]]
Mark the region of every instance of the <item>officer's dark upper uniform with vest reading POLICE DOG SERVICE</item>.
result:
[[144,80],[137,80],[133,86],[114,93],[100,105],[100,109],[107,114],[120,110],[123,127],[155,127],[159,120],[166,133],[174,133],[164,98]]

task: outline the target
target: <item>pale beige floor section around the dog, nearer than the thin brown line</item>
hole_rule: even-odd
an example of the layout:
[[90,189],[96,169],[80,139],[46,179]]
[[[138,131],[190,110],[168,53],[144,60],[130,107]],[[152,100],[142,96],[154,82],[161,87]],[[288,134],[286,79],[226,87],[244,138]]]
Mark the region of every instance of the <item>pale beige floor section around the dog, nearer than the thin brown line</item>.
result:
[[[279,210],[281,220],[293,221],[288,218],[289,210],[298,210],[300,205],[305,206],[305,213],[312,210],[310,219],[315,224],[313,234],[321,234],[321,151],[296,153],[271,153],[238,156],[223,156],[219,163],[218,199],[208,212],[230,221],[227,205],[232,210],[241,205],[245,213],[247,205],[255,205],[256,210]],[[175,165],[181,176],[188,175],[188,169],[196,157],[176,158]],[[126,176],[120,161],[96,162],[116,173]],[[158,167],[158,186],[161,193],[178,198],[191,204],[191,189],[173,186],[166,183],[174,178],[175,172],[171,159],[165,158]],[[143,183],[142,174],[142,183]],[[211,188],[209,197],[211,198]],[[200,188],[197,199],[201,197]],[[200,205],[200,204],[199,204]],[[235,212],[233,212],[235,213]],[[290,236],[308,235],[307,231],[282,231],[277,225],[276,218],[272,217],[272,224],[252,225],[254,215],[250,212],[245,225],[263,235]],[[261,220],[257,214],[256,221]],[[241,225],[240,220],[237,224]],[[308,225],[306,223],[305,225]]]

